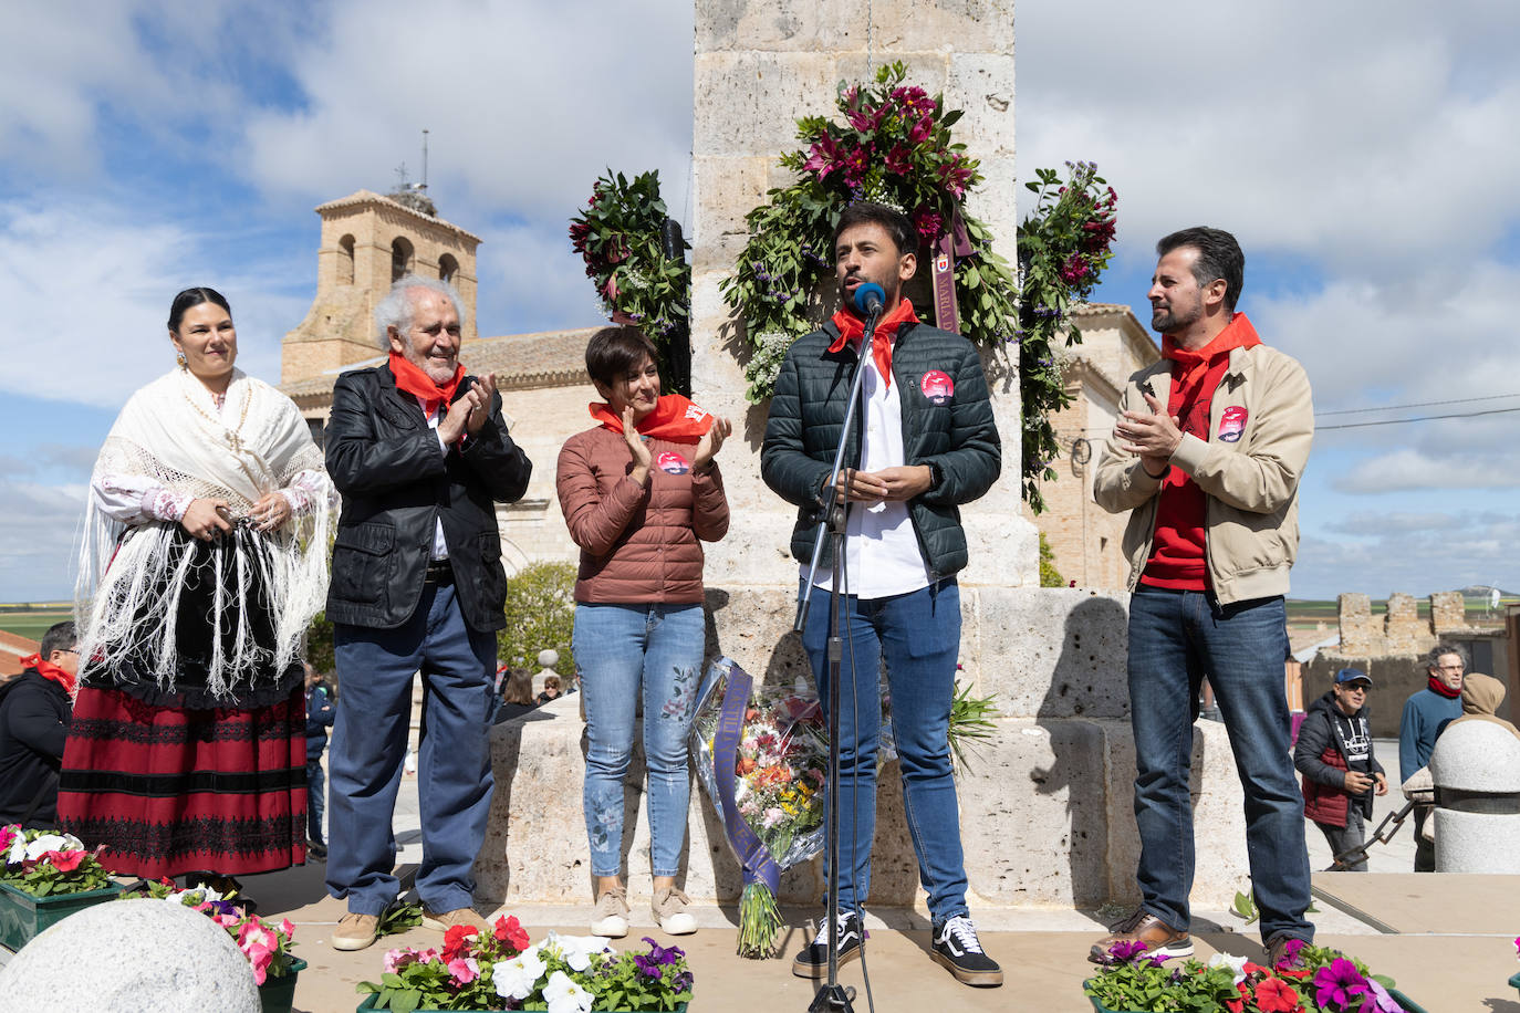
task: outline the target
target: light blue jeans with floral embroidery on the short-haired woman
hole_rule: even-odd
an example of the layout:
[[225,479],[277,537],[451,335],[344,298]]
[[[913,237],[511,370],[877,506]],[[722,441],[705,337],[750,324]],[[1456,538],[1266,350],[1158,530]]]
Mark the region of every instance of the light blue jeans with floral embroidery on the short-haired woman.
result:
[[575,664],[585,693],[585,834],[591,875],[622,873],[623,782],[634,720],[644,711],[649,866],[679,872],[692,778],[686,735],[696,712],[705,647],[702,606],[576,604]]

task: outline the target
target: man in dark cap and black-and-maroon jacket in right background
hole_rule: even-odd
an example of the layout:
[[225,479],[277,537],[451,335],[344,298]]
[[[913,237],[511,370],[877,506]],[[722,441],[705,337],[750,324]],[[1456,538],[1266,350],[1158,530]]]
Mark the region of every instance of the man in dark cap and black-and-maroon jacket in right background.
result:
[[[1373,794],[1388,794],[1388,778],[1373,755],[1371,688],[1360,668],[1335,673],[1330,691],[1309,705],[1294,747],[1294,765],[1304,775],[1304,816],[1325,835],[1332,857],[1362,846]],[[1366,872],[1366,855],[1345,870]]]

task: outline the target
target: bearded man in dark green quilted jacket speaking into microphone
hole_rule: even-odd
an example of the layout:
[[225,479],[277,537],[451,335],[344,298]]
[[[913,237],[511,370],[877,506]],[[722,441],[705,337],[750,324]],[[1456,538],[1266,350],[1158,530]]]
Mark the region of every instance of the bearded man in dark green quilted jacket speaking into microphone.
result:
[[[965,905],[948,726],[961,649],[955,574],[967,563],[958,507],[997,480],[1002,443],[976,349],[920,323],[901,298],[917,249],[918,232],[900,211],[866,202],[844,211],[834,232],[842,308],[798,339],[781,363],[760,474],[798,506],[792,554],[807,580],[854,371],[866,371],[839,475],[848,503],[839,601],[839,963],[860,955],[865,936],[885,662],[903,805],[933,917],[933,958],[965,984],[999,986],[1003,972],[982,951]],[[860,348],[871,322],[869,348]],[[803,629],[824,700],[831,565],[825,544]],[[827,963],[825,920],[792,970],[818,978]]]

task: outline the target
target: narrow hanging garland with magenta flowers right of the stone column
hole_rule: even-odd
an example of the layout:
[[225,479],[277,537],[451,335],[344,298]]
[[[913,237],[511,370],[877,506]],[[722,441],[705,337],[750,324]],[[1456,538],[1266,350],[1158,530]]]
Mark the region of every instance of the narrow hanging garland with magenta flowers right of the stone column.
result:
[[1067,163],[1070,181],[1053,169],[1037,169],[1035,210],[1018,226],[1018,387],[1023,396],[1023,495],[1035,513],[1044,510],[1040,483],[1056,477],[1050,463],[1061,454],[1050,413],[1072,398],[1066,393],[1058,349],[1082,340],[1072,310],[1091,295],[1113,255],[1114,208],[1119,196],[1093,163]]

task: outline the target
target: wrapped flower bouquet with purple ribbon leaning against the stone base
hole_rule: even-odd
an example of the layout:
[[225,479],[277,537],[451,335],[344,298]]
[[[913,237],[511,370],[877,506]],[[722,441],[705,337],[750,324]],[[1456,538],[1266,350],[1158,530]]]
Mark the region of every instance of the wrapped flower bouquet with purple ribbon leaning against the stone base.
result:
[[812,690],[752,688],[720,658],[692,721],[696,770],[743,866],[739,955],[775,955],[781,872],[824,849],[828,732]]

